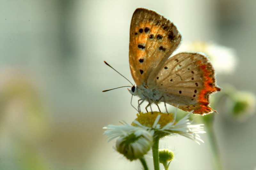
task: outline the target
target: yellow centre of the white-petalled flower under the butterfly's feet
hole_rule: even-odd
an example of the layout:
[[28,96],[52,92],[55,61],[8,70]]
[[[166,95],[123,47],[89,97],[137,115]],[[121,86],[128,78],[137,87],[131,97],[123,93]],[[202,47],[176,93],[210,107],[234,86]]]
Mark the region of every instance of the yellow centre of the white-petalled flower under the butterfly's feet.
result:
[[[140,124],[142,124],[143,126],[152,128],[156,120],[156,117],[158,115],[161,115],[161,117],[157,124],[160,124],[161,127],[164,127],[166,124],[172,122],[174,119],[172,113],[162,113],[162,112],[154,111],[154,112],[147,112],[147,113],[139,112],[137,113],[137,118],[135,120],[140,122]],[[174,124],[176,123],[177,122],[175,121]],[[138,125],[132,122],[132,126],[138,126]]]

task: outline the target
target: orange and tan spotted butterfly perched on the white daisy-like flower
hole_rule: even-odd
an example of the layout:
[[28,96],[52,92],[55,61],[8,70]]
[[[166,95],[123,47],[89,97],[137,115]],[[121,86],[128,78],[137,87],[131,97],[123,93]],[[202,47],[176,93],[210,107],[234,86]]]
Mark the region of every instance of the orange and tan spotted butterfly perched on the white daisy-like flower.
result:
[[128,90],[140,97],[139,106],[144,101],[148,106],[164,102],[184,111],[194,110],[194,114],[212,113],[215,110],[209,106],[209,95],[220,91],[212,64],[202,53],[171,56],[180,41],[180,32],[169,19],[152,10],[136,9],[129,42],[135,85]]

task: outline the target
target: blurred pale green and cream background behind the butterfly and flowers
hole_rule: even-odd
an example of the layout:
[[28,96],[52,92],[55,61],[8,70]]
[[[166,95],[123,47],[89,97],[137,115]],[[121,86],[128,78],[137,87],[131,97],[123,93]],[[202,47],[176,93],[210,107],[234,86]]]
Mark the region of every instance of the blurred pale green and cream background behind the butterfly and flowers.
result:
[[[136,118],[126,88],[102,90],[130,85],[103,60],[133,82],[128,44],[138,7],[170,18],[183,35],[181,49],[207,47],[223,88],[212,98],[230,94],[213,108],[223,168],[256,167],[255,0],[0,0],[0,169],[140,169],[102,135],[102,127]],[[244,106],[239,116],[237,104]],[[201,145],[162,140],[175,153],[170,168],[213,169],[201,138]]]

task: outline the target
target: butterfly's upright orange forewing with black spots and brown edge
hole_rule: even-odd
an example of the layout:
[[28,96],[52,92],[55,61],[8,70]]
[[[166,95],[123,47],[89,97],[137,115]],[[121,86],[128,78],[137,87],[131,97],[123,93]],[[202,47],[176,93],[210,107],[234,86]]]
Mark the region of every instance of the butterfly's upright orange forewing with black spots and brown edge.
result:
[[134,11],[130,27],[129,63],[137,87],[147,87],[149,75],[161,68],[180,40],[181,35],[170,20],[148,9]]

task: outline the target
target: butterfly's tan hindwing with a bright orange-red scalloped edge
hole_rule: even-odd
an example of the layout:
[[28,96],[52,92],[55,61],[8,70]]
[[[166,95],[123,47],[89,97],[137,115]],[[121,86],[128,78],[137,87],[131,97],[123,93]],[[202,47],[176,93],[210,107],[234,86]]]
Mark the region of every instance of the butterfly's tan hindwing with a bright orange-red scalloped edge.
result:
[[209,95],[220,91],[216,86],[214,69],[207,57],[200,53],[179,53],[161,67],[149,88],[155,87],[166,103],[179,104],[184,111],[208,114],[215,110],[209,106]]

